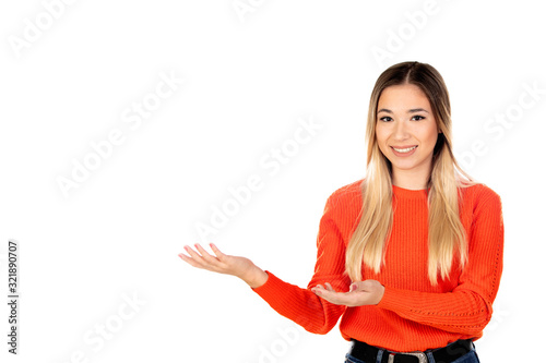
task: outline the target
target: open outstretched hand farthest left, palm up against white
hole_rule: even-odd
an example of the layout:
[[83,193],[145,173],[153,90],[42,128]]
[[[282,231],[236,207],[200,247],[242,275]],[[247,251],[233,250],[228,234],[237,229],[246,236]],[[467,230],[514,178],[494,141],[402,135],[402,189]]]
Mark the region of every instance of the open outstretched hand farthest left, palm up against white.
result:
[[256,266],[250,259],[226,255],[213,243],[210,245],[216,256],[207,253],[199,243],[195,243],[197,251],[188,245],[183,247],[189,256],[183,253],[178,254],[178,256],[193,267],[236,276],[247,282],[251,288],[258,288],[268,280],[268,273]]

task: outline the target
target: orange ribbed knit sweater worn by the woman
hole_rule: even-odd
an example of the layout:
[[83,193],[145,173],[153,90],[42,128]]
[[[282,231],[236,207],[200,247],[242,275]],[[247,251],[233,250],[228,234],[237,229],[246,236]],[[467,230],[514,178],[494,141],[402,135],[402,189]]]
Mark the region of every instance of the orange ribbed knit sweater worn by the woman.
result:
[[427,273],[427,190],[393,186],[394,218],[385,264],[380,274],[363,267],[363,280],[384,287],[377,305],[345,307],[317,297],[310,288],[330,282],[348,291],[345,249],[361,208],[358,180],[337,189],[327,201],[317,237],[314,274],[306,289],[266,270],[266,282],[252,289],[277,313],[306,330],[340,330],[351,338],[391,351],[424,351],[458,339],[482,337],[491,318],[502,273],[503,222],[500,197],[484,184],[463,187],[461,221],[468,237],[468,263],[459,268],[455,256],[449,280],[431,286]]

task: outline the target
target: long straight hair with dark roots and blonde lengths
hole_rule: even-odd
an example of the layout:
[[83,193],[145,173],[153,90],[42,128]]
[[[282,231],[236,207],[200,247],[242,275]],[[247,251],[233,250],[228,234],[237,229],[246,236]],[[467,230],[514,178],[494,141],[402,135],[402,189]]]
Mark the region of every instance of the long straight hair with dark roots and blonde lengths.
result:
[[363,263],[376,273],[380,271],[384,263],[393,220],[392,166],[377,142],[377,106],[384,88],[402,84],[416,85],[425,93],[441,131],[432,153],[432,168],[427,185],[428,278],[431,285],[437,285],[438,273],[442,279],[449,276],[455,252],[459,254],[461,268],[466,263],[467,241],[459,216],[459,187],[475,182],[461,169],[453,156],[451,106],[443,78],[431,65],[419,62],[403,62],[390,66],[381,73],[373,86],[366,129],[366,178],[360,184],[363,208],[358,226],[347,245],[346,274],[353,281],[359,281],[363,279]]

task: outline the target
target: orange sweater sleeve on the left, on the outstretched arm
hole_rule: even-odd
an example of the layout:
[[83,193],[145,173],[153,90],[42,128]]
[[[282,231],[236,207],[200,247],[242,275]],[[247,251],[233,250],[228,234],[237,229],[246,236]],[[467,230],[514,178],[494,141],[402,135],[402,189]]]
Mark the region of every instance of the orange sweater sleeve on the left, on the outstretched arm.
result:
[[[335,193],[334,193],[335,194]],[[345,245],[334,220],[335,195],[327,201],[317,235],[317,263],[306,289],[285,282],[266,270],[264,285],[252,289],[278,314],[314,334],[327,334],[337,323],[345,306],[317,297],[310,289],[330,282],[336,291],[347,291],[351,281],[344,276]]]

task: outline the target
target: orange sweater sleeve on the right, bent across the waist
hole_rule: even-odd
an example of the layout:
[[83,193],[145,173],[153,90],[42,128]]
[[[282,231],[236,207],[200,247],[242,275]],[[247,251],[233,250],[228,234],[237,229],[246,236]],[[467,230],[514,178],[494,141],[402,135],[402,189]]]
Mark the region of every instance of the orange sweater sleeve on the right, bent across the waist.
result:
[[492,315],[502,273],[503,220],[500,197],[482,187],[474,207],[468,262],[451,292],[385,287],[378,307],[442,330],[479,335]]

